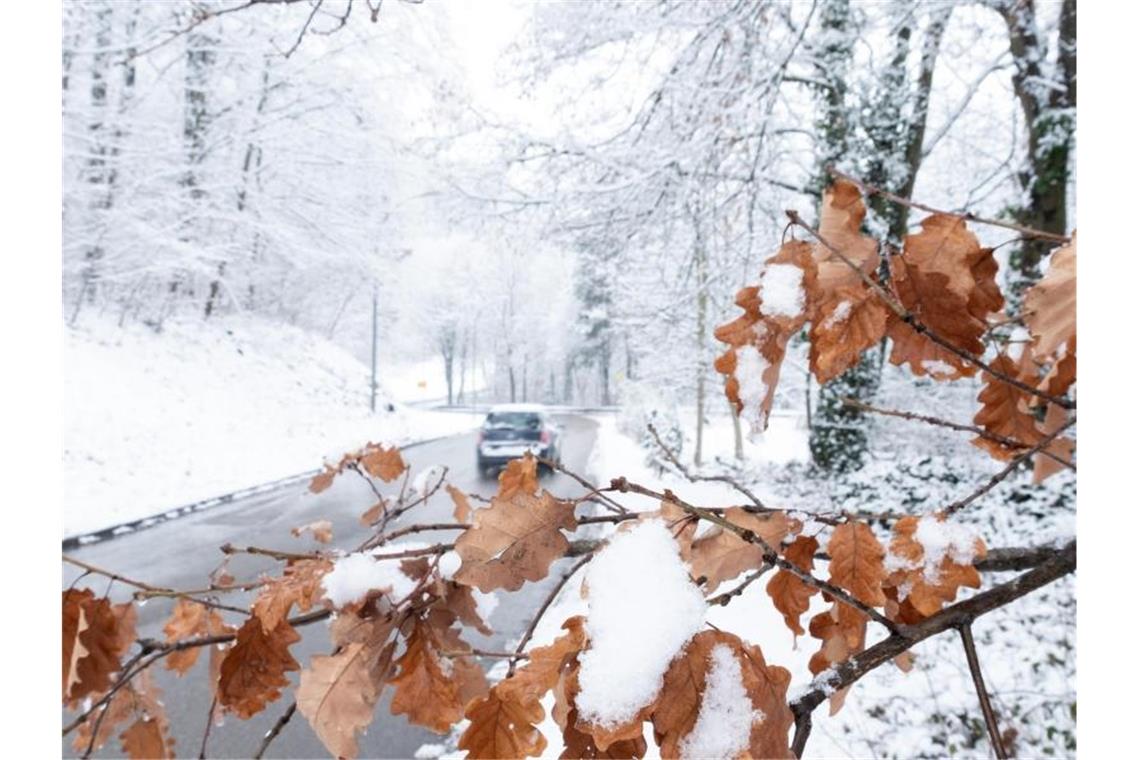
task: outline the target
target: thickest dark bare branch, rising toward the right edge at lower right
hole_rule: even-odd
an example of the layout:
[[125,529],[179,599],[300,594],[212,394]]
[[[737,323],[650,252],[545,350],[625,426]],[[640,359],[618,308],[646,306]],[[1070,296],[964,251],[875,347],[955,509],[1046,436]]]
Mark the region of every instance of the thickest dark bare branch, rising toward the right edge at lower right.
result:
[[874,646],[836,665],[829,673],[826,683],[814,683],[807,693],[795,700],[789,706],[796,716],[796,737],[792,751],[796,757],[803,757],[804,745],[811,733],[811,721],[805,718],[823,703],[829,694],[849,686],[871,672],[879,665],[890,662],[895,656],[906,652],[919,641],[946,630],[961,628],[971,623],[987,612],[1002,607],[1015,599],[1047,586],[1076,570],[1076,541],[1070,541],[1064,549],[1041,563],[1033,570],[1018,575],[1011,581],[995,586],[990,590],[959,602],[942,612],[927,618],[920,623],[906,626],[897,634],[891,634]]

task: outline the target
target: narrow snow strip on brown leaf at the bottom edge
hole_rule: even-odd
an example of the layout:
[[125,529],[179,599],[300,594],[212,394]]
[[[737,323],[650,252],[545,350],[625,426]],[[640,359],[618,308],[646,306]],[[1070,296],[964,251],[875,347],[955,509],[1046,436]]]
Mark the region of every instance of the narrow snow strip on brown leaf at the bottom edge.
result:
[[701,709],[693,730],[681,742],[683,758],[736,758],[748,750],[752,724],[764,713],[752,709],[740,661],[725,644],[712,647]]

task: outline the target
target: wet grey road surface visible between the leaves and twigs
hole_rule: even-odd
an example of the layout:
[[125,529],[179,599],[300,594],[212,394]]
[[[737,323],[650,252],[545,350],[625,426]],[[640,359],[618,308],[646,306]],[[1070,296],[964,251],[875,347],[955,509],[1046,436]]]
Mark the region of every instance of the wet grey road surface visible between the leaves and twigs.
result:
[[[562,417],[565,426],[562,459],[570,469],[585,471],[586,459],[593,447],[595,423],[584,417]],[[448,481],[459,489],[484,496],[491,496],[497,487],[494,480],[481,477],[475,469],[475,434],[456,435],[423,446],[414,447],[405,452],[405,459],[413,467],[413,476],[421,468],[430,465],[448,467]],[[583,488],[564,475],[547,475],[543,479],[544,488],[563,497],[577,496]],[[202,588],[207,575],[214,570],[222,554],[219,548],[229,541],[235,546],[262,546],[283,550],[307,550],[312,546],[310,539],[298,539],[290,534],[290,529],[303,525],[315,520],[329,520],[333,523],[333,546],[351,548],[364,540],[365,529],[359,516],[375,499],[367,487],[351,473],[340,479],[327,491],[312,495],[304,485],[292,487],[275,493],[251,497],[235,501],[207,512],[192,514],[187,517],[162,523],[154,528],[115,538],[103,544],[95,544],[71,551],[71,556],[92,565],[114,571],[125,578],[144,581],[165,588],[190,589]],[[404,515],[396,525],[417,522],[451,522],[453,504],[442,491],[437,493],[426,505],[422,505]],[[454,540],[455,532],[422,533],[417,538],[425,541]],[[563,563],[569,561],[562,561]],[[230,562],[230,572],[241,580],[256,578],[259,572],[275,571],[277,563],[263,557],[249,555],[235,556]],[[530,615],[549,591],[560,565],[552,567],[551,575],[543,582],[528,583],[513,594],[499,593],[499,604],[488,621],[495,629],[495,635],[482,637],[478,632],[465,632],[472,645],[480,648],[502,649],[516,640],[526,628]],[[64,587],[66,588],[80,572],[64,565]],[[87,575],[80,579],[78,586],[88,586],[97,594],[107,590],[105,578]],[[113,602],[130,598],[130,588],[122,583],[111,586]],[[236,606],[245,606],[250,596],[228,595],[226,602]],[[172,602],[153,599],[139,608],[138,634],[140,637],[162,638],[162,626],[170,615]],[[234,622],[236,615],[226,613],[227,620]],[[319,622],[299,628],[302,640],[293,646],[294,657],[304,667],[314,654],[327,654],[331,651],[328,632],[325,623]],[[490,668],[491,662],[483,662]],[[205,679],[205,657],[182,679],[178,679],[165,669],[155,669],[156,683],[163,689],[163,701],[174,732],[178,757],[197,757],[206,711],[210,708],[210,692]],[[291,673],[295,687],[298,673]],[[409,726],[402,716],[392,716],[388,710],[388,698],[391,689],[376,709],[376,719],[368,734],[361,737],[360,753],[365,758],[410,758],[424,743],[438,743],[441,737],[425,729]],[[210,734],[206,757],[210,758],[247,758],[259,746],[262,736],[277,721],[282,712],[292,701],[292,688],[261,714],[250,720],[239,720],[233,716],[225,719],[225,725],[215,726]],[[73,716],[65,717],[70,721]],[[125,728],[123,726],[122,728]],[[71,737],[64,741],[64,755],[75,757]],[[82,750],[79,752],[82,754]],[[117,736],[96,754],[96,757],[122,757]],[[328,757],[324,745],[309,727],[308,721],[295,714],[280,736],[270,746],[267,757],[274,758],[324,758]]]

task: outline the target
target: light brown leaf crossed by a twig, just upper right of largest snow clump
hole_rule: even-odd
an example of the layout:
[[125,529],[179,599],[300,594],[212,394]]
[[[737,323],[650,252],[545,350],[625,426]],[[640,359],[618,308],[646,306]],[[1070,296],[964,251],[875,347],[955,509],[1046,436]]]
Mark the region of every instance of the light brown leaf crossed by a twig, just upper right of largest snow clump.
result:
[[[777,549],[790,534],[798,533],[800,523],[790,520],[782,512],[754,514],[741,507],[732,507],[724,513],[725,520],[750,530]],[[706,593],[714,593],[720,583],[732,580],[748,570],[757,570],[764,564],[764,549],[758,544],[746,541],[732,531],[715,528],[692,544],[690,563],[693,578],[705,578]]]

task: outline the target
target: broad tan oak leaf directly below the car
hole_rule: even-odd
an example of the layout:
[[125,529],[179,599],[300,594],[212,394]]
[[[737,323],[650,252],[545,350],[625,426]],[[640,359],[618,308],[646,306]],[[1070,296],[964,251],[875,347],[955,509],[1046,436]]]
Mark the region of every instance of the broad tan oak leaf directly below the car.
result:
[[561,531],[577,528],[573,502],[560,501],[547,491],[535,497],[512,488],[512,493],[497,496],[488,508],[478,510],[472,528],[456,540],[455,550],[463,559],[456,582],[484,593],[514,591],[523,581],[546,578],[551,563],[565,556],[570,542]]

